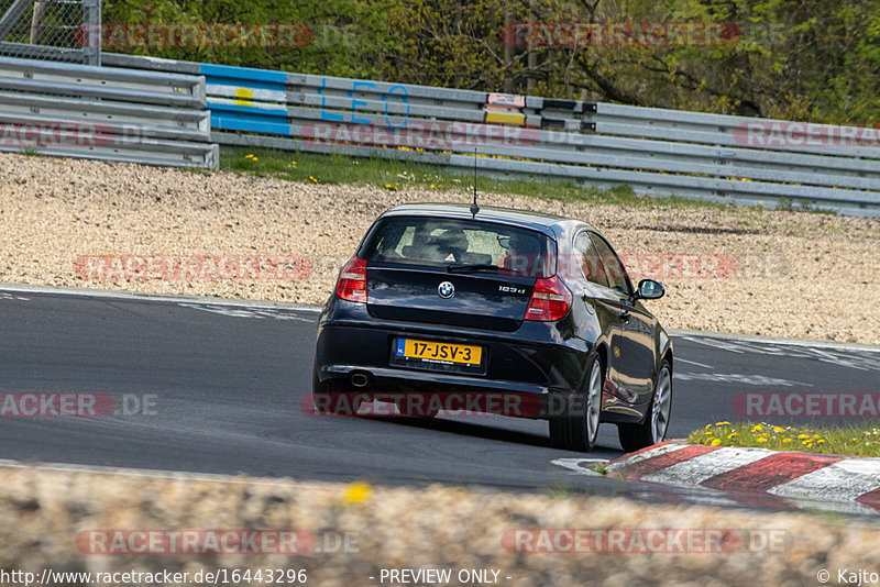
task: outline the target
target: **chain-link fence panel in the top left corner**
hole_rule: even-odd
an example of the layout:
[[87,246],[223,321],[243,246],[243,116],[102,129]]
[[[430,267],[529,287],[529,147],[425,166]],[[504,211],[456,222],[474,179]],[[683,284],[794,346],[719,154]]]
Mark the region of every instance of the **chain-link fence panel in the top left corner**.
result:
[[0,0],[0,57],[100,65],[100,0]]

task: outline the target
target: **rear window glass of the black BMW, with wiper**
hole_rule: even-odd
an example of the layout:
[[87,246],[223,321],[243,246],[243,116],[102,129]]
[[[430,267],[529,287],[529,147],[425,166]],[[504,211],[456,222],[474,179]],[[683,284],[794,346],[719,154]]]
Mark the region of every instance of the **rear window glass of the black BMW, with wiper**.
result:
[[479,220],[391,217],[380,220],[361,247],[364,261],[550,277],[556,253],[547,235]]

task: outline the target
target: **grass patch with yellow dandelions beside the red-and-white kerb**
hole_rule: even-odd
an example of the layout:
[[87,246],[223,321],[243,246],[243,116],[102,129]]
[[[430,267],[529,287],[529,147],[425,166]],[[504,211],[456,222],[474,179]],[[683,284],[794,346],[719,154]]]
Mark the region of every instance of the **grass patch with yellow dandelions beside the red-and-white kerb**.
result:
[[707,446],[757,446],[772,451],[880,456],[880,422],[840,428],[716,422],[691,432],[688,442]]

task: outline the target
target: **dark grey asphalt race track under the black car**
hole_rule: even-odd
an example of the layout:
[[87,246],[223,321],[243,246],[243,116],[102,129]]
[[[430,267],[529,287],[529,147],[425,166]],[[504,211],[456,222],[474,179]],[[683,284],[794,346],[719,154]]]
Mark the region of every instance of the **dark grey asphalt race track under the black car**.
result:
[[[605,478],[576,466],[623,454],[609,424],[600,430],[600,448],[581,454],[551,448],[543,421],[306,414],[300,399],[310,391],[316,319],[309,309],[0,290],[0,392],[108,394],[117,410],[100,418],[3,417],[0,458],[729,505],[717,491]],[[746,419],[734,407],[741,394],[880,391],[878,350],[673,339],[670,438]]]

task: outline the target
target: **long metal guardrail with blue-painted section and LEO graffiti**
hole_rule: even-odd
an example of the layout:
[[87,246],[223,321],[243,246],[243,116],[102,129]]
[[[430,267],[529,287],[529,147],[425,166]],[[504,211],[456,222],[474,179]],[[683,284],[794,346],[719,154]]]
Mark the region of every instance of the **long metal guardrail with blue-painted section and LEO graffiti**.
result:
[[[871,129],[103,54],[202,75],[221,144],[420,160],[639,193],[880,217]],[[847,140],[856,136],[858,141]]]

